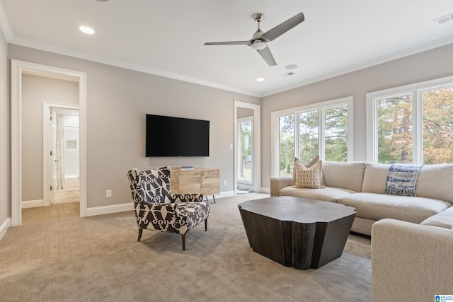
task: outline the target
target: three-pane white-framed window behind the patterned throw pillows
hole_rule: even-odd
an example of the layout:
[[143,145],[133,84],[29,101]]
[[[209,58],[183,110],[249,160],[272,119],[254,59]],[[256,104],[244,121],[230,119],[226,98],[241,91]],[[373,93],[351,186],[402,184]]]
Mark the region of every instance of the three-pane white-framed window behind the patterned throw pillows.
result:
[[352,97],[272,113],[273,175],[292,175],[294,157],[306,163],[352,161]]

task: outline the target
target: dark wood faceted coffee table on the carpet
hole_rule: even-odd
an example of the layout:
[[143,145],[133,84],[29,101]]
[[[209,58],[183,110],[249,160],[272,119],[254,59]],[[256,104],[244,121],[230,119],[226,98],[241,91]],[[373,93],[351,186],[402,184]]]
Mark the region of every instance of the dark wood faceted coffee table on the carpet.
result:
[[249,200],[239,211],[251,248],[297,269],[340,257],[355,218],[352,207],[297,197]]

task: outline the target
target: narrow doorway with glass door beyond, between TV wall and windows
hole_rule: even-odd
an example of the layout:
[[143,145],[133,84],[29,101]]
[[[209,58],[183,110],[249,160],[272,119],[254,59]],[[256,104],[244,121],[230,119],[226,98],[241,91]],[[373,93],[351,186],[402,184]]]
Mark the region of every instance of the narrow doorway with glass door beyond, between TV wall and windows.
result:
[[260,192],[260,105],[234,102],[235,194]]

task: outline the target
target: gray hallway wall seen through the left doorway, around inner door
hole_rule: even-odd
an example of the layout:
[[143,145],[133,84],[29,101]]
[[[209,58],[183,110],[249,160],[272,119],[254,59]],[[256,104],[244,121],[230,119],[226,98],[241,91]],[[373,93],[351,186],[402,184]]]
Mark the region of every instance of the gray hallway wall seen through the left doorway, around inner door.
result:
[[79,104],[79,83],[22,75],[22,200],[42,199],[42,102]]

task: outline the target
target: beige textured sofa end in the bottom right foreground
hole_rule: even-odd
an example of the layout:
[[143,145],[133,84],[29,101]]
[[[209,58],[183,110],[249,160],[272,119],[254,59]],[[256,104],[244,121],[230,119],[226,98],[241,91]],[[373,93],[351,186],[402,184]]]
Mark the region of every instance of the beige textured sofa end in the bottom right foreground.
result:
[[373,302],[453,293],[453,231],[382,219],[372,227]]

